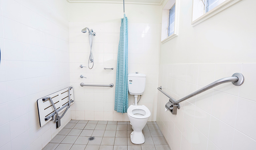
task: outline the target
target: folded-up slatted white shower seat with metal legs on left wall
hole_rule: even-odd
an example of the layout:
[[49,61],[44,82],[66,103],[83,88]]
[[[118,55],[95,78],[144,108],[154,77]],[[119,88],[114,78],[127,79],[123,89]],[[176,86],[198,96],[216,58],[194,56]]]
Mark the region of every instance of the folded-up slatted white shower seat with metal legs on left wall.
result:
[[[56,128],[60,127],[60,119],[74,102],[72,89],[73,87],[70,86],[37,100],[40,127],[49,121],[54,121]],[[59,116],[60,113],[62,113],[61,116]]]

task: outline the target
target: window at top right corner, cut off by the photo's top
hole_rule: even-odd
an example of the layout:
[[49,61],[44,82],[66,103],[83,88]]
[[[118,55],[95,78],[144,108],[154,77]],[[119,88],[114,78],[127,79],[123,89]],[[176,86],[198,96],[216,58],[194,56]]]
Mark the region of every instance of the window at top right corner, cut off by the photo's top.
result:
[[195,26],[242,0],[193,0],[192,25]]

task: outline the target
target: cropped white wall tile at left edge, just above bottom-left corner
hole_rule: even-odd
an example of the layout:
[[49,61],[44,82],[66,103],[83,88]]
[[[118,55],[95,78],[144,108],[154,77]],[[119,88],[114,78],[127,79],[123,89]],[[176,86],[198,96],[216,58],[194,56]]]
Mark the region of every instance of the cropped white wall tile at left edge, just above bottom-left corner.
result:
[[6,123],[0,126],[0,147],[11,141],[11,134],[10,134],[10,124]]

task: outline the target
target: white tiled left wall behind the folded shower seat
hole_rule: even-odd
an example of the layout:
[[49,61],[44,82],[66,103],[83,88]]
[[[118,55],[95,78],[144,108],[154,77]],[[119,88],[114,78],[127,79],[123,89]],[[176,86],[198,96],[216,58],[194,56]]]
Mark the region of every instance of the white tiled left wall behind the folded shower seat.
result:
[[71,119],[40,128],[36,106],[70,85],[68,3],[0,2],[0,150],[42,149]]

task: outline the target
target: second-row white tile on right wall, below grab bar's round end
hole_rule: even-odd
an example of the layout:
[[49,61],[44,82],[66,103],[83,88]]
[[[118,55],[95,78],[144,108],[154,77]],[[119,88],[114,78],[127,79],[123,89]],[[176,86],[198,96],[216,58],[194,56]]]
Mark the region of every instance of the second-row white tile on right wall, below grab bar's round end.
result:
[[237,104],[237,96],[214,91],[212,115],[234,127],[236,121]]

